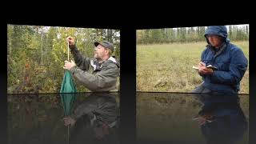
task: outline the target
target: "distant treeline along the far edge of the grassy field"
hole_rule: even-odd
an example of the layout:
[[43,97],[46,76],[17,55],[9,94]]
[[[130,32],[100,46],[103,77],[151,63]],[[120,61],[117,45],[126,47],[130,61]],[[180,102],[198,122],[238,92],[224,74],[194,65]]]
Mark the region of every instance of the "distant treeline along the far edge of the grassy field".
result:
[[[248,25],[226,26],[231,41],[249,40]],[[172,42],[201,42],[206,26],[137,30],[137,44],[163,44]]]

